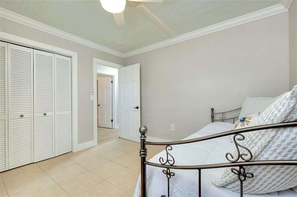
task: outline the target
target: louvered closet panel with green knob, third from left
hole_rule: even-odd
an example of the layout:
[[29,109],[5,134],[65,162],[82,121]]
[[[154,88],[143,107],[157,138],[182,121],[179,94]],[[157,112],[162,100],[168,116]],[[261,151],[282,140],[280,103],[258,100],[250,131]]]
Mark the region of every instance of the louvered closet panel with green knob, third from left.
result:
[[54,54],[34,49],[34,162],[55,156]]

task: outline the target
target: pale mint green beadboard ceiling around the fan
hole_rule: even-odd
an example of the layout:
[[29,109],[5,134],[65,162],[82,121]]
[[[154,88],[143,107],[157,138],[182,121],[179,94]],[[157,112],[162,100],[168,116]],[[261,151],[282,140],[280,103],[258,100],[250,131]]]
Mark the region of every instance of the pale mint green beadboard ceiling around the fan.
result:
[[[143,2],[149,12],[176,36],[236,18],[280,1],[166,1]],[[117,26],[100,1],[0,0],[0,7],[121,53],[172,38],[135,7],[126,6],[125,25]],[[105,43],[116,41],[119,47]]]

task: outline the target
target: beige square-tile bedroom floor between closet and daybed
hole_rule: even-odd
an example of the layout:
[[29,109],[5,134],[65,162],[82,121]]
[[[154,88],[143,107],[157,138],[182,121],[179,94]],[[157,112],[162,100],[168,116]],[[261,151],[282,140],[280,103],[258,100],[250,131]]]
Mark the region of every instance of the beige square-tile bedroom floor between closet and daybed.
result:
[[[0,173],[1,197],[131,197],[140,173],[140,144],[116,139]],[[165,147],[148,147],[148,159]]]

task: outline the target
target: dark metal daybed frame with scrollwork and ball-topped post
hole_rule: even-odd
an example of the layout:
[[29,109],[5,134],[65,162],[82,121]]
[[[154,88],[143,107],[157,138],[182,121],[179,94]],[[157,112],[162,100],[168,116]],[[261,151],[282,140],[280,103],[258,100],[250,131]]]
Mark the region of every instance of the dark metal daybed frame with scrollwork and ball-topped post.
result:
[[[233,110],[226,111],[226,112],[214,113],[214,108],[211,108],[211,122],[214,122],[214,121],[225,122],[225,120],[233,119],[233,123],[234,123],[235,119],[238,118],[238,116],[231,117],[231,118],[225,118],[225,113],[233,112],[233,111],[236,111],[239,109],[241,109],[241,108],[233,109]],[[219,119],[214,119],[215,114],[220,115]],[[235,139],[237,139],[238,141],[244,140],[245,138],[244,138],[243,133],[249,132],[249,131],[258,131],[258,130],[263,130],[263,129],[294,127],[294,126],[297,126],[297,122],[274,123],[274,124],[268,124],[268,125],[259,125],[259,126],[241,128],[241,129],[237,129],[237,130],[225,131],[222,133],[199,137],[199,138],[195,138],[195,139],[173,141],[173,142],[146,142],[146,133],[147,133],[148,129],[146,128],[146,126],[141,126],[139,128],[139,132],[141,134],[140,135],[140,149],[139,149],[140,150],[139,153],[140,153],[140,157],[141,157],[141,161],[140,161],[140,163],[141,163],[141,172],[140,172],[140,174],[141,174],[141,184],[140,184],[141,185],[141,197],[146,197],[146,165],[164,168],[162,170],[162,172],[166,175],[167,180],[168,180],[168,193],[167,193],[167,196],[162,195],[161,197],[170,197],[170,178],[175,175],[174,172],[170,171],[170,169],[184,169],[184,170],[196,169],[196,170],[198,170],[198,197],[201,197],[201,170],[213,169],[213,168],[225,168],[225,167],[232,167],[231,171],[234,174],[238,175],[238,179],[240,182],[240,197],[243,197],[243,182],[247,178],[254,177],[254,174],[245,171],[244,166],[264,166],[264,165],[294,165],[294,166],[296,166],[297,160],[251,161],[252,157],[253,157],[251,151],[247,147],[244,147],[244,146],[238,144],[238,142]],[[234,135],[233,140],[234,140],[234,144],[236,146],[237,153],[238,153],[237,158],[234,158],[230,152],[226,153],[225,157],[229,161],[229,163],[215,163],[215,164],[197,165],[197,166],[175,166],[174,165],[175,160],[173,158],[173,155],[171,155],[169,153],[169,151],[172,150],[171,145],[200,142],[200,141],[214,139],[214,138],[228,136],[228,135]],[[239,139],[236,138],[237,136],[240,136],[240,138]],[[165,148],[166,159],[160,157],[159,158],[160,164],[146,161],[146,156],[147,156],[146,145],[166,145],[166,148]],[[240,153],[238,147],[246,149],[249,154]],[[245,156],[245,157],[243,157],[243,156]],[[246,158],[246,156],[249,156],[249,158]],[[238,160],[240,158],[244,161],[238,162]],[[236,169],[235,167],[238,167],[239,169]]]

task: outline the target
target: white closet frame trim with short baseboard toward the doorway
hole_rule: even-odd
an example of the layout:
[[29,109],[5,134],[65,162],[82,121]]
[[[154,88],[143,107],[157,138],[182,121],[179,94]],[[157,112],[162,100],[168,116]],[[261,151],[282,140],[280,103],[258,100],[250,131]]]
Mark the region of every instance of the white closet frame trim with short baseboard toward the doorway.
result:
[[[72,130],[72,152],[77,152],[89,147],[94,146],[94,142],[86,142],[78,144],[78,55],[74,51],[59,48],[52,45],[47,45],[42,42],[26,39],[20,36],[8,34],[6,32],[1,33],[1,41],[10,42],[17,45],[23,45],[26,47],[34,47],[38,50],[44,50],[60,55],[65,55],[71,58],[71,130]],[[97,144],[97,141],[96,141]]]

